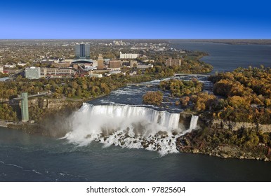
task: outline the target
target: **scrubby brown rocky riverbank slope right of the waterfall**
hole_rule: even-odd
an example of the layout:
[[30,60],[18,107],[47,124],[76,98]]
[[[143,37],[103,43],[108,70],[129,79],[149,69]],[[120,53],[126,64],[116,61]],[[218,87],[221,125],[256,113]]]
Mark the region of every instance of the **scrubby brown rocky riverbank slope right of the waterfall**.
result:
[[226,126],[216,127],[215,124],[214,127],[206,127],[206,122],[201,118],[198,123],[200,128],[179,137],[176,146],[181,153],[271,161],[271,148],[263,143],[270,132],[256,130],[256,125],[251,124],[239,128],[239,124],[232,123],[232,130],[229,130]]

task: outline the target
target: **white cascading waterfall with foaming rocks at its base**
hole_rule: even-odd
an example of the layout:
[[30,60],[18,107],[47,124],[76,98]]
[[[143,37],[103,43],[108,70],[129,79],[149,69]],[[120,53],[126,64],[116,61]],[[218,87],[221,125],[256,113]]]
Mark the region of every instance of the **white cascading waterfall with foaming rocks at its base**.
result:
[[[145,148],[161,155],[177,153],[176,138],[183,134],[179,118],[179,113],[145,107],[84,103],[72,116],[73,131],[65,139],[79,145],[99,141],[105,146]],[[197,126],[193,122],[190,126]]]

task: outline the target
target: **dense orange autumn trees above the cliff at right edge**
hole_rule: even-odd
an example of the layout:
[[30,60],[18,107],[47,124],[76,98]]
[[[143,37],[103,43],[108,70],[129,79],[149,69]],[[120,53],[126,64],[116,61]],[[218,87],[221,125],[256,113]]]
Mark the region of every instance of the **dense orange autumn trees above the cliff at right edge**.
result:
[[236,69],[211,76],[213,93],[222,96],[213,104],[213,117],[236,122],[271,124],[271,70]]

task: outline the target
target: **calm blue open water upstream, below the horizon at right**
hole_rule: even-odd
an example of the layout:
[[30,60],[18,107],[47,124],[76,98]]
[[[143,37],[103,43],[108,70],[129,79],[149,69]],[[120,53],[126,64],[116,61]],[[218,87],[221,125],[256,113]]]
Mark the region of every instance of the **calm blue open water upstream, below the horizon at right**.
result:
[[208,52],[202,61],[213,65],[213,72],[232,71],[239,66],[271,66],[271,45],[230,45],[192,41],[171,41],[173,48]]

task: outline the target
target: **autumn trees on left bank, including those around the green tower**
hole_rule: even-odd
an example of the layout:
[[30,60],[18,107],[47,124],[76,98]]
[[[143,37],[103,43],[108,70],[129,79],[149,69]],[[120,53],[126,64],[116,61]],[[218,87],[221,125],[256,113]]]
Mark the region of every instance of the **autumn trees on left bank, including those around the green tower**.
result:
[[[21,92],[38,94],[40,92],[51,92],[49,98],[56,99],[92,99],[109,94],[112,90],[123,87],[126,83],[135,83],[151,80],[150,76],[124,76],[121,74],[103,78],[52,78],[29,80],[19,76],[15,80],[0,83],[0,100],[6,102],[18,97]],[[41,98],[41,100],[43,100]],[[29,106],[29,119],[36,122],[41,120],[45,111],[42,106]],[[0,104],[0,119],[20,120],[20,109],[13,108],[7,103]]]

